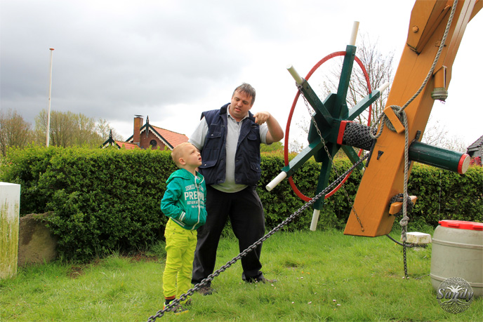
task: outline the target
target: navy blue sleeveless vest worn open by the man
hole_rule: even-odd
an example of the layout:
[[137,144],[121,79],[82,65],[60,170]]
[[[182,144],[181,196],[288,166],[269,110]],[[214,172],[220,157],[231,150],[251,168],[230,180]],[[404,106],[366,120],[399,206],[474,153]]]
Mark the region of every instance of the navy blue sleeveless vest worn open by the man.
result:
[[[208,124],[208,133],[201,150],[203,163],[199,166],[206,185],[225,182],[227,107],[213,109],[201,114]],[[255,123],[253,114],[241,123],[237,152],[234,159],[234,180],[238,185],[254,186],[260,180],[260,126]]]

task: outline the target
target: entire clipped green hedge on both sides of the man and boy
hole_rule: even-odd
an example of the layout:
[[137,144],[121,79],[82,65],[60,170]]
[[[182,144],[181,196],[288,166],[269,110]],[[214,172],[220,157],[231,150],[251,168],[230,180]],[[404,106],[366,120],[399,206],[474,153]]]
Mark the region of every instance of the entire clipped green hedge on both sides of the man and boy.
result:
[[[21,185],[20,213],[51,212],[48,224],[58,236],[63,257],[89,260],[112,250],[144,249],[162,238],[166,217],[159,202],[166,179],[175,166],[170,152],[159,150],[29,147],[11,149],[0,165],[0,180]],[[265,207],[267,229],[275,227],[303,206],[284,180],[272,192],[265,185],[284,166],[279,154],[262,158],[258,194]],[[336,159],[338,173],[350,161]],[[293,180],[312,196],[319,164],[309,161]],[[331,175],[331,181],[336,177]],[[331,198],[326,199],[318,227],[343,229],[361,174],[355,170]],[[409,194],[418,196],[409,225],[437,226],[438,220],[483,221],[483,168],[470,167],[465,175],[429,166],[413,166]],[[308,229],[312,210],[307,209],[285,229]],[[413,230],[413,227],[409,229]]]

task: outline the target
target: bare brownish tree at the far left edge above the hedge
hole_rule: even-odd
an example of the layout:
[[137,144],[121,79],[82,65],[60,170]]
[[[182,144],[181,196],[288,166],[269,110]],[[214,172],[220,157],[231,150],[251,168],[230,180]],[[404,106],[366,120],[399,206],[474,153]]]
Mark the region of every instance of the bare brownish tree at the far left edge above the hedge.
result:
[[32,142],[32,125],[16,111],[0,110],[0,150],[6,155],[8,147],[25,147]]

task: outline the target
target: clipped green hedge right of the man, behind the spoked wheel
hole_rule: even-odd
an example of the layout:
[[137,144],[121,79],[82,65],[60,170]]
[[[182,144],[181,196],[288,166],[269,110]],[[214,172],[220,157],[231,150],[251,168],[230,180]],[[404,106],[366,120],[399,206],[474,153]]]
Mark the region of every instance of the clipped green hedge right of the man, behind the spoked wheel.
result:
[[[338,174],[348,170],[352,163],[348,159],[335,159],[334,167]],[[267,213],[267,226],[274,227],[296,209],[303,206],[292,191],[289,182],[284,180],[272,192],[267,192],[265,185],[270,182],[284,166],[280,156],[265,156],[262,159],[262,179],[258,194],[263,201]],[[305,196],[313,196],[317,186],[320,165],[315,161],[305,163],[303,168],[293,175],[293,181]],[[333,196],[326,199],[317,227],[344,229],[362,174],[355,170]],[[330,182],[336,179],[334,170]],[[377,183],[375,183],[377,184]],[[409,214],[409,229],[420,227],[437,227],[439,220],[466,220],[483,222],[483,168],[470,166],[464,175],[441,170],[421,163],[413,163],[408,182],[409,195],[417,196],[418,200]],[[312,220],[312,210],[305,214],[289,229],[308,229]],[[395,220],[399,227],[399,220]]]

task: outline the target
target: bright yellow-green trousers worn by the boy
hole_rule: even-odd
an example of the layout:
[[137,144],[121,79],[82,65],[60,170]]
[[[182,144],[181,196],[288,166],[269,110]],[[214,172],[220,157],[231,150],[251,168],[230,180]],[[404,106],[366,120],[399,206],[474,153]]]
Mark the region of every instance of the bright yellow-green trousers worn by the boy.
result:
[[191,287],[197,231],[180,227],[171,218],[164,230],[166,238],[166,267],[163,273],[164,297],[180,297]]

